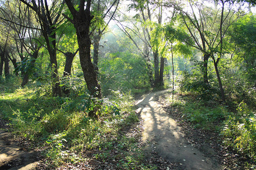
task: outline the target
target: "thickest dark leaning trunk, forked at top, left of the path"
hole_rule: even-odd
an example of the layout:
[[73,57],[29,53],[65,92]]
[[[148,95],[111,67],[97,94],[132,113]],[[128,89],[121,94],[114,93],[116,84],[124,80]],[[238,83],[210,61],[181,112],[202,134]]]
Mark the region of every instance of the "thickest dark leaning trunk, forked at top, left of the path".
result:
[[[90,14],[91,0],[80,1],[79,11],[75,9],[71,0],[65,1],[69,11],[73,16],[73,19],[65,16],[76,28],[77,42],[79,44],[79,57],[82,67],[82,72],[84,73],[84,79],[86,86],[93,97],[101,99],[101,86],[98,84],[97,75],[94,71],[94,66],[90,56],[90,45],[92,44],[89,35],[90,22],[93,19],[93,16]],[[99,115],[96,113],[97,107],[93,108],[93,111],[89,112],[89,117],[99,118]]]

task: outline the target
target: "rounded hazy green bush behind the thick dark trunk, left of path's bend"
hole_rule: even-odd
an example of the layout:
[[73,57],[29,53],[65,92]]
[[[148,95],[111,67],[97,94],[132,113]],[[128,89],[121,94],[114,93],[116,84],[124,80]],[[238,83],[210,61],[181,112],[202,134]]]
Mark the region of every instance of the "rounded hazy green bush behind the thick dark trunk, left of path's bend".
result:
[[112,90],[130,91],[133,93],[150,88],[146,61],[131,53],[113,53],[102,59],[100,64],[100,82],[104,95]]

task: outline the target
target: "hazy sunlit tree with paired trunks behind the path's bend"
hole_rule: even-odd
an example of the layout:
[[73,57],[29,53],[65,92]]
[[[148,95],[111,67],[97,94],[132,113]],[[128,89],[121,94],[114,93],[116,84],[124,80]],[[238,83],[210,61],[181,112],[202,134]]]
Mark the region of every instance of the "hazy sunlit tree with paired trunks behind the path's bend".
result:
[[[157,6],[157,7],[156,7]],[[130,8],[134,9],[139,12],[139,14],[136,14],[134,16],[135,19],[137,19],[135,22],[130,23],[133,24],[133,27],[130,27],[129,25],[124,25],[124,23],[121,23],[121,27],[119,27],[123,32],[126,34],[126,36],[131,39],[136,48],[147,61],[147,67],[148,67],[148,73],[149,78],[151,82],[151,86],[158,87],[163,86],[163,70],[164,70],[164,58],[161,56],[160,59],[160,70],[159,70],[159,52],[158,48],[154,48],[152,45],[152,31],[154,27],[157,27],[157,25],[162,24],[162,18],[163,18],[163,9],[162,6],[158,6],[158,3],[155,3],[154,5],[151,5],[149,1],[133,1],[133,3],[130,4]],[[156,10],[157,9],[157,10]],[[124,15],[124,14],[123,14]],[[153,19],[153,16],[155,16],[156,20]],[[127,17],[126,17],[127,18]],[[141,28],[138,27],[138,24],[141,24]],[[129,33],[130,32],[130,33]],[[137,42],[135,42],[135,38],[132,36],[137,36],[141,41],[143,42],[143,45],[138,45]],[[152,68],[150,65],[150,57],[149,54],[152,53],[152,56],[154,58],[154,79],[152,78]],[[154,81],[154,82],[153,82]]]

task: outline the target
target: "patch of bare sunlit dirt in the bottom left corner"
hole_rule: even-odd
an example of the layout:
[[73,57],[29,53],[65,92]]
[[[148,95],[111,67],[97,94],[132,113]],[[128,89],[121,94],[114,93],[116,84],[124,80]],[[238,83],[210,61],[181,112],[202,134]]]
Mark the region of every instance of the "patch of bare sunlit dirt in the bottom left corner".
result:
[[0,169],[35,169],[36,152],[26,151],[13,141],[11,133],[0,130]]

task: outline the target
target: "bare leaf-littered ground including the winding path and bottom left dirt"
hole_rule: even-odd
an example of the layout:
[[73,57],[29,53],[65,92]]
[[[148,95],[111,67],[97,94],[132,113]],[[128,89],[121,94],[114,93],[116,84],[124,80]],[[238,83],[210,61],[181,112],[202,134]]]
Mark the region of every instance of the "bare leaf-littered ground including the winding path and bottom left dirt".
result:
[[[79,161],[67,160],[57,169],[243,169],[247,158],[222,145],[213,130],[193,128],[168,103],[170,95],[167,90],[142,96],[136,103],[139,120],[123,125],[115,137],[108,135],[110,146],[82,150]],[[11,130],[5,121],[0,123],[1,129]],[[127,140],[124,137],[132,139],[134,146],[128,146],[130,141],[118,143]],[[25,138],[1,131],[0,169],[33,169],[35,165],[36,169],[56,169],[39,153]]]

